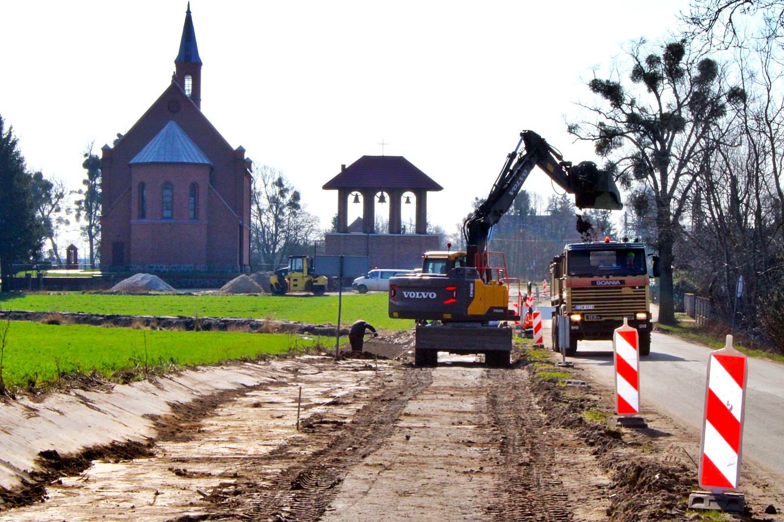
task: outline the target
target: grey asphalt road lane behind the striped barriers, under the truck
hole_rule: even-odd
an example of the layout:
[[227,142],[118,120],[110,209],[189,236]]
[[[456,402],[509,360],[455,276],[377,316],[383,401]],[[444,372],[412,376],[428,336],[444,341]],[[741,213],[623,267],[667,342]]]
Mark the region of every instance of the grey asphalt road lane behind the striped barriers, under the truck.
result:
[[[543,321],[544,339],[550,347],[550,321]],[[653,333],[651,354],[641,357],[641,411],[651,404],[676,419],[702,430],[706,373],[710,348],[687,343],[670,335]],[[580,341],[575,367],[592,379],[613,386],[612,342]],[[784,480],[784,364],[749,358],[746,383],[746,420],[742,458],[768,468]],[[655,427],[655,426],[652,426]]]

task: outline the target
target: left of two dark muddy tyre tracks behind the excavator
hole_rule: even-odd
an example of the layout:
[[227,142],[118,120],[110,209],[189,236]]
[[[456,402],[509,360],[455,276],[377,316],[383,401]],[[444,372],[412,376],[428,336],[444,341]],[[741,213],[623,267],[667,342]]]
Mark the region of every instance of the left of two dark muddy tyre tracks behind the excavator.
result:
[[[430,386],[431,380],[427,370],[399,372],[346,425],[318,417],[307,419],[303,430],[309,440],[303,446],[312,448],[314,439],[321,438],[325,448],[307,455],[296,442],[285,444],[256,459],[255,470],[241,473],[244,480],[215,488],[208,498],[217,504],[213,513],[176,520],[318,520],[350,468],[387,440],[408,400]],[[335,433],[330,426],[343,427]],[[265,477],[264,470],[270,468],[282,469],[274,477]]]

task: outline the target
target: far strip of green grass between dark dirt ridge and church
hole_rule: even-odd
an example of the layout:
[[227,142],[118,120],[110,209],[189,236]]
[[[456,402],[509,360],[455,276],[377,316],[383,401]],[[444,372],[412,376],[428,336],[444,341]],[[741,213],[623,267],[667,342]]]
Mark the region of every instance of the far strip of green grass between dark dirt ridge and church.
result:
[[[414,321],[390,319],[385,292],[343,295],[341,324],[359,318],[376,328],[404,330]],[[0,310],[87,312],[90,314],[249,317],[336,324],[337,295],[103,295],[80,292],[0,295]]]

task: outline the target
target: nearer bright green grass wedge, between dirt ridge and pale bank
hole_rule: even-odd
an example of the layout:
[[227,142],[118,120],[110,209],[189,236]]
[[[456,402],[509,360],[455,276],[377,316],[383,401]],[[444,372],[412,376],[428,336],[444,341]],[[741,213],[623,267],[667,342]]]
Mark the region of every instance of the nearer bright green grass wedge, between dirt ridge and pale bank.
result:
[[[331,350],[335,339],[243,332],[172,332],[102,328],[78,324],[50,325],[10,321],[2,352],[5,386],[41,386],[60,372],[110,376],[131,368],[215,364],[228,359],[286,353],[321,343]],[[146,343],[146,349],[145,349]]]

